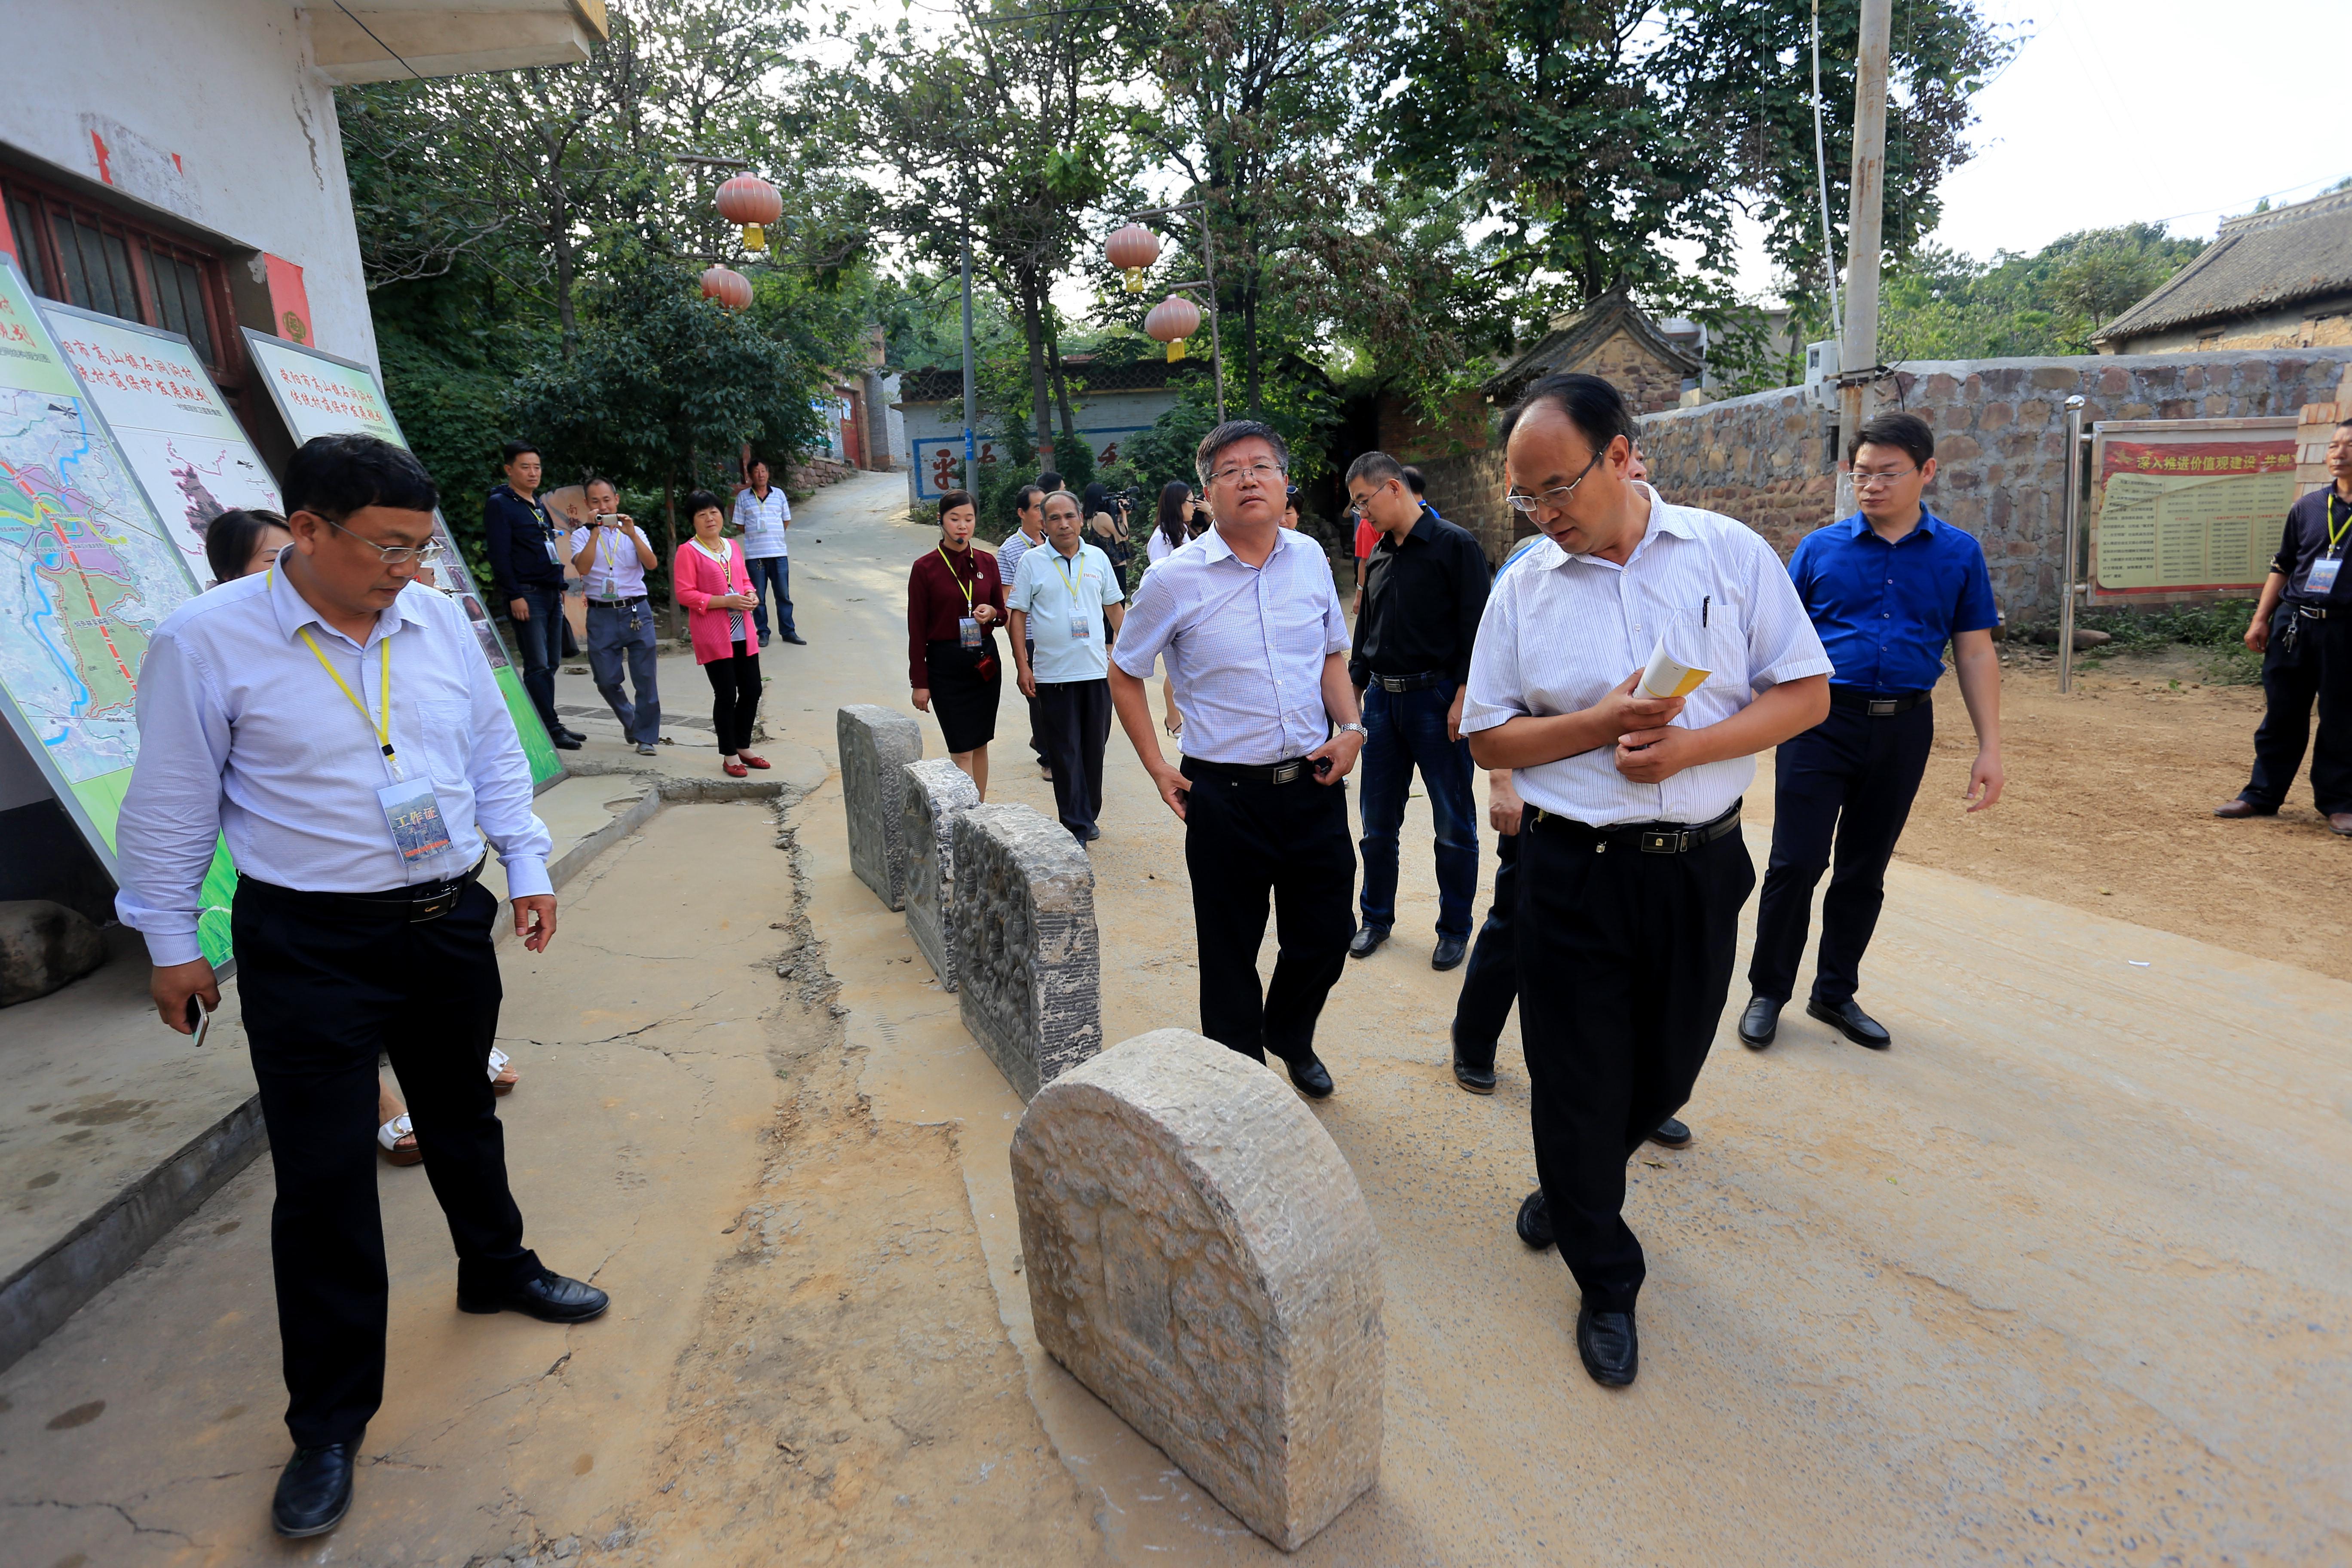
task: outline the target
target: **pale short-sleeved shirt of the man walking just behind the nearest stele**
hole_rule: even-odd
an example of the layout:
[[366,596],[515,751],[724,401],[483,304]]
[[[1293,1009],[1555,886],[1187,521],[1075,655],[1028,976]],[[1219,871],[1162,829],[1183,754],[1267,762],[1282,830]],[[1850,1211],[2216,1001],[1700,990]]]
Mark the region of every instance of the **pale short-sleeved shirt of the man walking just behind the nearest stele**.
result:
[[1251,567],[1211,529],[1143,574],[1110,658],[1145,679],[1167,656],[1188,757],[1263,766],[1331,738],[1322,670],[1345,651],[1322,545],[1275,529],[1275,552]]

